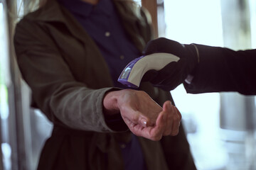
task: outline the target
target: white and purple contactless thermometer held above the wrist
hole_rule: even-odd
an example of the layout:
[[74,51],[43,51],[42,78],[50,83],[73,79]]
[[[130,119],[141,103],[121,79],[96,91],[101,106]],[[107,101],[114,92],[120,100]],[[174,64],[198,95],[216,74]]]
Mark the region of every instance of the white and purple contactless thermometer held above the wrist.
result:
[[178,62],[178,60],[179,57],[176,55],[164,52],[138,57],[127,64],[117,81],[125,86],[138,88],[147,71],[151,69],[158,71],[170,62]]

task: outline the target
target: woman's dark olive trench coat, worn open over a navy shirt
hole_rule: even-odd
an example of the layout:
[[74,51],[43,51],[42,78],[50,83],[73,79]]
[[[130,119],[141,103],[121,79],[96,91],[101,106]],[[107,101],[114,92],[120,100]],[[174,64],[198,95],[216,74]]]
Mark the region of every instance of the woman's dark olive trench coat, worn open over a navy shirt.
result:
[[[151,39],[146,11],[114,1],[124,29],[142,51]],[[51,0],[28,13],[16,26],[16,58],[32,91],[32,106],[53,122],[51,137],[41,152],[38,169],[124,169],[118,141],[131,133],[124,122],[107,125],[102,98],[112,87],[107,64],[95,42],[73,18]],[[171,94],[144,83],[161,106]],[[156,169],[196,169],[181,126],[175,137],[153,142],[139,137],[146,166]]]

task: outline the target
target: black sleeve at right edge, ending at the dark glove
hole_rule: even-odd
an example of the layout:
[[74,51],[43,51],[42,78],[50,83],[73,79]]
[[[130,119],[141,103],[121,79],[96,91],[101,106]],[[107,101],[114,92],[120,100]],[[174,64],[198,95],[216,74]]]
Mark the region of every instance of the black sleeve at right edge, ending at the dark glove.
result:
[[193,72],[191,84],[184,83],[188,93],[237,91],[245,95],[256,94],[256,50],[196,46],[200,63]]

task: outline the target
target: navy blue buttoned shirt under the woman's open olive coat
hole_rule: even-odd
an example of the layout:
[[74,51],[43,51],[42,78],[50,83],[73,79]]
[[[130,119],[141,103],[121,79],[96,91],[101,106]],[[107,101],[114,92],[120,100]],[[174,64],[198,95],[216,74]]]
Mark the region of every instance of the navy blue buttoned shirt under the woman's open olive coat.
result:
[[[73,13],[73,16],[95,40],[110,69],[114,86],[127,88],[117,79],[122,69],[141,53],[129,40],[119,21],[118,13],[111,0],[100,0],[97,5],[80,0],[58,0]],[[92,56],[93,57],[93,56]],[[126,170],[144,170],[146,165],[137,137],[132,135],[128,144],[120,143]]]

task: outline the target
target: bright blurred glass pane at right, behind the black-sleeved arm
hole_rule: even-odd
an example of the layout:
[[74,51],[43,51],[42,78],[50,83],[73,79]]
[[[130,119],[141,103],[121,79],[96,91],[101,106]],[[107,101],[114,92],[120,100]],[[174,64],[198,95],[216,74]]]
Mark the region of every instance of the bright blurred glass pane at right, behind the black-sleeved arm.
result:
[[[228,45],[236,50],[245,49],[244,45],[252,43],[255,48],[255,3],[254,0],[165,0],[165,36],[184,44],[198,43],[220,47]],[[186,94],[183,85],[171,91],[171,94],[183,115],[183,125],[188,132],[188,142],[198,169],[255,169],[256,132],[231,130],[227,128],[227,123],[225,128],[220,126],[220,108],[223,107],[228,109],[225,113],[228,123],[235,125],[235,128],[238,125],[247,125],[248,122],[244,122],[248,121],[248,116],[242,106],[248,104],[250,98],[233,93]],[[223,103],[228,95],[231,95],[228,98],[233,103],[231,105]],[[234,104],[235,101],[239,101],[239,105]],[[230,106],[233,112],[230,111]],[[233,123],[230,120],[234,120]]]

